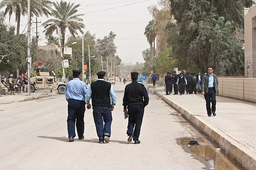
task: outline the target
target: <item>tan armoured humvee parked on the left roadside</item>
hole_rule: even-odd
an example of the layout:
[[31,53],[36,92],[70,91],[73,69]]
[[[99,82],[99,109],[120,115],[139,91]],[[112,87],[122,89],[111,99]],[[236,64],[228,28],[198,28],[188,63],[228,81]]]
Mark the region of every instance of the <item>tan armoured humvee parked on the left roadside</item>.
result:
[[54,76],[50,76],[49,70],[36,69],[36,77],[30,78],[30,92],[35,90],[58,90],[58,93],[64,94],[66,83],[58,82],[57,76],[52,71]]

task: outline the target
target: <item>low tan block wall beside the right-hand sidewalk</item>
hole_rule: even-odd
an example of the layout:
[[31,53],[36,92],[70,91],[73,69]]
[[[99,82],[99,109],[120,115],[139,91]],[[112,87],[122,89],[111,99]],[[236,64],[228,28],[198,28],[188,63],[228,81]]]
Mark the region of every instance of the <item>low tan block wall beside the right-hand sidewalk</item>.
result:
[[256,102],[256,78],[218,78],[219,96]]

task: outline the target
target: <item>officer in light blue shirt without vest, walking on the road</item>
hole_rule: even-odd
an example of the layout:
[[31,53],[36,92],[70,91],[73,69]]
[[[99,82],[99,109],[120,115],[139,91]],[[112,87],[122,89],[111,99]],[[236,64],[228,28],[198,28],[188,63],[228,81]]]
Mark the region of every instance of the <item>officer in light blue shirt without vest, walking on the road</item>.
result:
[[[73,80],[66,84],[65,97],[68,101],[68,138],[69,142],[74,142],[76,131],[78,139],[84,139],[84,112],[86,84],[80,80],[81,72],[73,70]],[[75,131],[76,122],[76,131]]]

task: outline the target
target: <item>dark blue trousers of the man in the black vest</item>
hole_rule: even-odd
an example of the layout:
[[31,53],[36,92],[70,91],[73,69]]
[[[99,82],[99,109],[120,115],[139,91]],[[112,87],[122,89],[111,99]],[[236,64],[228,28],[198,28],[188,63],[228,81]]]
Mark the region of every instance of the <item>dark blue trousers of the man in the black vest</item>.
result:
[[99,139],[103,139],[104,135],[110,137],[112,123],[111,108],[107,106],[92,106],[92,109],[93,119]]

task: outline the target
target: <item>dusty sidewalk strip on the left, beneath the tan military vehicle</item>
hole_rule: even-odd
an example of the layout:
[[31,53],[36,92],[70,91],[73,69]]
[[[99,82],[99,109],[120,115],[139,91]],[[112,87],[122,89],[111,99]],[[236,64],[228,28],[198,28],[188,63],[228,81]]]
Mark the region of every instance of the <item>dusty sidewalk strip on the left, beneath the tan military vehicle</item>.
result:
[[35,91],[34,93],[30,93],[30,96],[28,96],[28,93],[14,93],[15,95],[1,95],[0,97],[0,104],[7,104],[7,103],[12,103],[12,102],[20,102],[20,101],[25,101],[25,100],[32,100],[32,99],[37,99],[41,97],[49,97],[49,96],[56,96],[60,95],[59,93],[56,92],[50,92],[50,91]]

